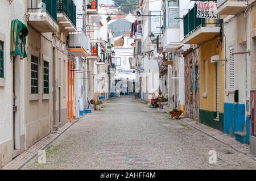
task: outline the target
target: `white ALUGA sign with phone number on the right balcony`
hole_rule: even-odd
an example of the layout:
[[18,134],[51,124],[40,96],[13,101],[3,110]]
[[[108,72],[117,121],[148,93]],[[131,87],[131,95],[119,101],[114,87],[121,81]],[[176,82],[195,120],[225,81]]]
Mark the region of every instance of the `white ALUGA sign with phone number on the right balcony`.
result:
[[196,18],[218,19],[217,3],[215,2],[197,2]]

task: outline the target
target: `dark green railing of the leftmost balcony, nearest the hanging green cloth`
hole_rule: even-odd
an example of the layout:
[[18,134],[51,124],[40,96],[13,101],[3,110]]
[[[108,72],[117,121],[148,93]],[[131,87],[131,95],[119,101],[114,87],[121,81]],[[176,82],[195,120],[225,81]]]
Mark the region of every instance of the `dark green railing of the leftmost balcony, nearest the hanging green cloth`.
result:
[[37,11],[45,10],[52,17],[52,19],[57,21],[57,0],[28,0],[28,10]]

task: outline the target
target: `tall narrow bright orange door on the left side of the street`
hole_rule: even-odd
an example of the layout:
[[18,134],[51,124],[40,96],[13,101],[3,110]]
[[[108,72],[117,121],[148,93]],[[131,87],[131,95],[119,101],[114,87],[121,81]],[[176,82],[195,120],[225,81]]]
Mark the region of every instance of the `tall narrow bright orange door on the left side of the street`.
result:
[[68,61],[68,102],[67,102],[67,108],[68,108],[68,121],[72,121],[74,111],[73,111],[73,98],[74,98],[74,69],[73,64],[71,61]]

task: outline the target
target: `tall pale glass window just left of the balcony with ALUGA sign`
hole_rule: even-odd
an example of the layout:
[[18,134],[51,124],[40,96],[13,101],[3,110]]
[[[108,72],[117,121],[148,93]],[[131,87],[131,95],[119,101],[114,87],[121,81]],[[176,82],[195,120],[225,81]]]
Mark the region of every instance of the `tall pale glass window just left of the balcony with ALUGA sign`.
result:
[[168,1],[168,27],[179,27],[179,1]]

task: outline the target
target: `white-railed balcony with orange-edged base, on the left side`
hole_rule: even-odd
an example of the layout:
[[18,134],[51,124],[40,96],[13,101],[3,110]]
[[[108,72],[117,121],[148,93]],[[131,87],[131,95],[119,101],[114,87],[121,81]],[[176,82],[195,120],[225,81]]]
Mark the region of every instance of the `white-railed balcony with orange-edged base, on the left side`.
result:
[[90,37],[84,31],[69,33],[68,50],[73,56],[86,57],[90,55]]

